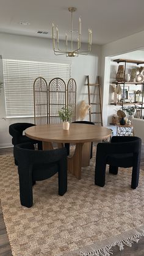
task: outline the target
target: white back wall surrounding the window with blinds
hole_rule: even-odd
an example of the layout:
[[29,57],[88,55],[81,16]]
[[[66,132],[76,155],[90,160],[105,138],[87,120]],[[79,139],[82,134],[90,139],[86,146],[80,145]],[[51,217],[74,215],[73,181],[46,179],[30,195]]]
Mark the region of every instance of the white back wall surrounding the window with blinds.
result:
[[[0,34],[0,55],[3,59],[71,63],[71,77],[77,83],[77,102],[83,99],[88,102],[87,86],[84,86],[85,76],[90,75],[90,82],[95,82],[96,76],[100,75],[101,72],[101,46],[99,45],[93,45],[92,52],[88,56],[68,58],[55,56],[52,49],[52,41],[49,39]],[[4,90],[2,90],[0,95],[0,147],[12,145],[11,136],[9,135],[10,123],[24,121],[34,122],[31,119],[5,119]]]

